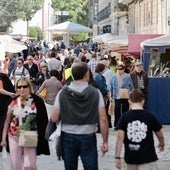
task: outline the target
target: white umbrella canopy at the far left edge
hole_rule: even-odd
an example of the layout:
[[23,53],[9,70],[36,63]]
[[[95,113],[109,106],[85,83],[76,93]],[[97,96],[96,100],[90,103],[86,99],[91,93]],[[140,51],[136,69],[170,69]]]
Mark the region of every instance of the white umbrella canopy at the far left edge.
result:
[[18,53],[27,49],[22,42],[14,40],[8,35],[0,35],[0,59],[4,59],[5,52]]

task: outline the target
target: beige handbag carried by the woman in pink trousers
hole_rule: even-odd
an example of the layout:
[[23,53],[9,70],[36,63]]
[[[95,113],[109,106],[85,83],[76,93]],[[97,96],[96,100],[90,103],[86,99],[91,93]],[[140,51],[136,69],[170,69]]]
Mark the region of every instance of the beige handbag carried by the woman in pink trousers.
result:
[[20,130],[18,145],[22,147],[37,147],[37,131]]

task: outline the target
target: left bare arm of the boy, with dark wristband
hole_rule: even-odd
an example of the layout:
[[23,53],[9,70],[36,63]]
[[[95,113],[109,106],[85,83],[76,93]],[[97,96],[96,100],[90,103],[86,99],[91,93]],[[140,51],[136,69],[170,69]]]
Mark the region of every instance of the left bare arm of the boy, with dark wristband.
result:
[[122,149],[124,136],[125,136],[124,131],[118,130],[116,145],[115,145],[115,166],[118,169],[122,168],[122,162],[121,162],[121,159],[120,159],[120,152],[121,152],[121,149]]

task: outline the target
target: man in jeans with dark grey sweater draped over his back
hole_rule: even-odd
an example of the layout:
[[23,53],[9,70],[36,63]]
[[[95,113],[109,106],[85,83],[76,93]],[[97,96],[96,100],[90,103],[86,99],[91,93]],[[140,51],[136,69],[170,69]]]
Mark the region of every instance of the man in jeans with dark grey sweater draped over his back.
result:
[[62,122],[63,159],[66,170],[78,169],[80,156],[85,170],[98,170],[96,131],[100,124],[101,150],[108,151],[108,120],[101,92],[89,85],[86,63],[72,65],[74,81],[57,94],[51,121]]

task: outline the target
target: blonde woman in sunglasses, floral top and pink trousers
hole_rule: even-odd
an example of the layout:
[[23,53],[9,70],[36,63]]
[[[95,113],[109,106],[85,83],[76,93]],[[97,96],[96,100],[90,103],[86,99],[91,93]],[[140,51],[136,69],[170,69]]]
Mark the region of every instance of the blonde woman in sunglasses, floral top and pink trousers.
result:
[[[16,82],[16,92],[18,96],[8,106],[1,146],[6,145],[8,136],[11,170],[37,170],[36,155],[50,154],[44,138],[48,123],[46,107],[43,100],[33,94],[29,79],[21,77]],[[26,127],[29,131],[37,131],[37,147],[19,146],[19,130]]]

